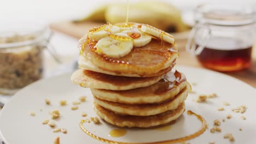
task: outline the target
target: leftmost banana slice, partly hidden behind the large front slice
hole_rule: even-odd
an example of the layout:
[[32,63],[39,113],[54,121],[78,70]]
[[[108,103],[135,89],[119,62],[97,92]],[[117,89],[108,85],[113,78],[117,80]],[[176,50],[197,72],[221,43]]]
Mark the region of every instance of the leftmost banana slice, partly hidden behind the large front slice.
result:
[[[109,28],[109,26],[106,26],[105,29],[108,29],[108,28]],[[94,40],[94,41],[99,41],[100,39],[102,39],[104,37],[107,37],[108,32],[105,29],[103,29],[101,31],[98,31],[98,32],[90,32],[89,33],[89,38]],[[110,32],[111,33],[118,33],[118,32],[120,32],[120,28],[117,27],[117,26],[112,26],[110,28]]]

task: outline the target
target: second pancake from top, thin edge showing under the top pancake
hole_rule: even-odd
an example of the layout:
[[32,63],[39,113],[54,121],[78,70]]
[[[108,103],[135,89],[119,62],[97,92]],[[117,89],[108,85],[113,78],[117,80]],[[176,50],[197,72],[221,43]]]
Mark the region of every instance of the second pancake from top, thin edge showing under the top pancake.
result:
[[[92,64],[90,61],[88,61],[88,59],[86,59],[83,56],[79,57],[78,64],[79,64],[78,65],[79,69],[96,71],[98,73],[103,73],[103,74],[108,74],[108,75],[117,75],[117,76],[142,77],[138,74],[117,73],[117,72],[108,71],[106,69],[105,70],[100,69],[100,68],[96,67],[94,64]],[[143,77],[154,77],[154,76],[160,76],[162,74],[166,74],[166,73],[168,73],[168,71],[172,70],[172,68],[174,67],[175,64],[176,64],[176,62],[173,61],[172,65],[170,67],[162,69],[162,70],[158,71],[157,73],[143,75]]]

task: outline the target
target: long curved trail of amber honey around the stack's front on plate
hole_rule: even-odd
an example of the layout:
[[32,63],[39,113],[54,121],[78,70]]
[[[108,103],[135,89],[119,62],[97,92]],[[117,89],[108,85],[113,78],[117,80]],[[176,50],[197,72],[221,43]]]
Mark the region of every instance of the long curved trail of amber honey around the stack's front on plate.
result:
[[207,128],[207,123],[205,121],[205,118],[203,118],[201,115],[197,115],[196,113],[194,113],[193,111],[188,110],[187,111],[188,115],[193,115],[195,116],[197,119],[199,119],[199,121],[202,123],[201,128],[199,130],[197,130],[194,134],[188,135],[188,136],[184,136],[184,137],[179,137],[177,139],[172,139],[172,140],[166,140],[166,141],[156,141],[156,142],[142,142],[142,143],[132,143],[132,142],[119,142],[119,141],[112,141],[112,140],[107,140],[104,139],[102,137],[99,137],[95,134],[92,134],[90,131],[86,130],[84,128],[83,123],[85,123],[85,120],[81,120],[81,122],[79,123],[80,128],[84,131],[85,134],[91,136],[92,138],[102,141],[102,142],[106,142],[106,143],[117,143],[117,144],[164,144],[164,143],[177,143],[177,142],[184,142],[184,141],[188,141],[191,139],[194,139],[197,136],[200,136],[201,134],[203,134],[203,132],[205,132],[206,128]]

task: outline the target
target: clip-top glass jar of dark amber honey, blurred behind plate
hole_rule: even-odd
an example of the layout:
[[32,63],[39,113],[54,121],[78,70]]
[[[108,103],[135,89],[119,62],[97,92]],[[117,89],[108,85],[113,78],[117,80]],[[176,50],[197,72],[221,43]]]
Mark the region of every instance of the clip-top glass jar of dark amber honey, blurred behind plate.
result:
[[255,9],[241,5],[200,5],[187,51],[206,68],[237,71],[250,67],[255,33]]

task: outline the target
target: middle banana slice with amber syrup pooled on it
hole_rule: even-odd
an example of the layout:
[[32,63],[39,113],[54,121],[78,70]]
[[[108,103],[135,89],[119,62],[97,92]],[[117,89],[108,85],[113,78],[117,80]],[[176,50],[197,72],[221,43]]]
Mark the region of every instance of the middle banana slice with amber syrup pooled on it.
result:
[[139,32],[137,29],[134,29],[134,28],[131,31],[123,31],[121,33],[125,33],[129,37],[131,37],[133,41],[133,45],[135,47],[141,47],[141,46],[147,45],[152,39],[150,35]]

